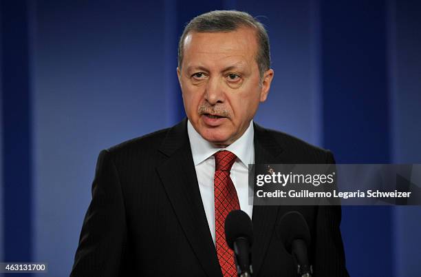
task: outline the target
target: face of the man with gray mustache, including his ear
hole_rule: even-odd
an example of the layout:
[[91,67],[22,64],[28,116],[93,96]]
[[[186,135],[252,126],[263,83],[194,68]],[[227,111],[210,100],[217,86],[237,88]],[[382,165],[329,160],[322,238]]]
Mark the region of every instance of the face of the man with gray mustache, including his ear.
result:
[[266,100],[273,70],[261,82],[255,30],[191,32],[177,68],[184,109],[206,141],[226,146],[246,131],[259,102]]

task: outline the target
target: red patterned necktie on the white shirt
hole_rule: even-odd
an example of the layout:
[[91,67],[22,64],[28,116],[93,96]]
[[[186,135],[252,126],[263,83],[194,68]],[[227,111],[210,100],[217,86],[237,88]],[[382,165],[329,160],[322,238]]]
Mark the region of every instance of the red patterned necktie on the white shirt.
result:
[[237,276],[233,250],[225,240],[225,218],[233,209],[239,209],[237,191],[230,178],[230,170],[235,162],[234,153],[229,151],[216,152],[215,156],[215,246],[219,265],[224,276]]

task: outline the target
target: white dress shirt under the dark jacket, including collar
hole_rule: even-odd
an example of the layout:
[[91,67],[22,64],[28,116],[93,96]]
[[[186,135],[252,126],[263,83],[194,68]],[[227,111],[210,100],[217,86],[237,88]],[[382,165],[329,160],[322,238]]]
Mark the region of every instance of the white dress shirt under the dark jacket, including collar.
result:
[[[190,121],[187,121],[187,132],[191,145],[191,154],[193,154],[193,162],[195,163],[200,196],[202,196],[210,234],[212,234],[213,243],[215,243],[215,200],[213,197],[215,158],[213,154],[220,150],[228,150],[237,156],[237,159],[231,168],[230,177],[237,190],[240,209],[252,218],[253,206],[249,205],[248,192],[248,164],[255,163],[253,121],[250,121],[250,125],[246,132],[244,132],[237,141],[226,148],[215,147],[215,145],[203,139],[202,136],[196,132]],[[252,193],[250,194],[250,203],[252,203]]]

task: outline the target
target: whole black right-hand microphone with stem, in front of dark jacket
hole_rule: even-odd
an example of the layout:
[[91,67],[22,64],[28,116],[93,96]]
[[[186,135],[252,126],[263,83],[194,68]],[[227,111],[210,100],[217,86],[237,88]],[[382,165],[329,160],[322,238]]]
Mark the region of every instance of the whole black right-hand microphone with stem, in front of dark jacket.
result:
[[298,276],[311,277],[313,269],[307,254],[311,241],[310,229],[304,216],[299,212],[288,212],[282,216],[279,225],[279,234],[283,245],[288,253],[294,256],[298,265]]

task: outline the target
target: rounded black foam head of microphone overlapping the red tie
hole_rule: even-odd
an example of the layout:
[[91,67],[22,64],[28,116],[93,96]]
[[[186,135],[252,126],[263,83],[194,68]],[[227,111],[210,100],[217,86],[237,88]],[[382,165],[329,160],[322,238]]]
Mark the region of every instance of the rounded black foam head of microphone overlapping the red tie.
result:
[[233,249],[237,238],[246,238],[248,243],[253,244],[253,225],[250,217],[241,209],[231,211],[225,219],[226,243]]

